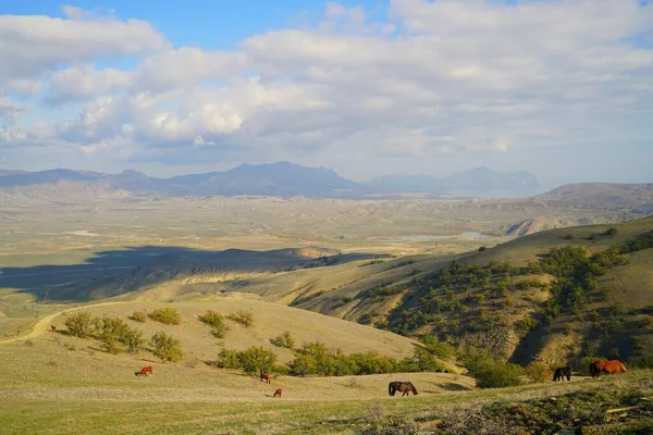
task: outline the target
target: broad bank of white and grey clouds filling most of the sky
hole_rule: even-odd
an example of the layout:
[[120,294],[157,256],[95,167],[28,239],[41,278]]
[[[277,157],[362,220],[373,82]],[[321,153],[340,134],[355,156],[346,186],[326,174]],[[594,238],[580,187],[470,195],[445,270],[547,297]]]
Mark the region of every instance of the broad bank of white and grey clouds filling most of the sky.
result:
[[[141,21],[66,14],[0,16],[11,42],[0,95],[84,103],[7,127],[0,147],[184,164],[207,153],[507,159],[618,138],[653,111],[653,50],[632,42],[653,33],[653,5],[637,0],[392,0],[381,22],[329,2],[317,26],[251,35],[230,52],[171,48]],[[106,54],[136,66],[98,66]]]

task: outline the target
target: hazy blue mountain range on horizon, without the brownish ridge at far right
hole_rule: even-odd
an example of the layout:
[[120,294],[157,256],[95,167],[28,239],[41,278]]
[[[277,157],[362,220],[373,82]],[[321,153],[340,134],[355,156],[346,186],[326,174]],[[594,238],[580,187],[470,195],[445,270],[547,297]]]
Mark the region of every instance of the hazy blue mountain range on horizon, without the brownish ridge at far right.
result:
[[515,197],[539,192],[538,178],[528,172],[500,173],[488,167],[458,172],[447,177],[389,175],[357,183],[326,167],[289,162],[244,163],[224,172],[157,178],[138,171],[120,174],[54,169],[39,172],[0,170],[0,189],[58,185],[123,191],[128,196],[241,196],[261,195],[310,198],[362,198],[421,192],[434,196]]

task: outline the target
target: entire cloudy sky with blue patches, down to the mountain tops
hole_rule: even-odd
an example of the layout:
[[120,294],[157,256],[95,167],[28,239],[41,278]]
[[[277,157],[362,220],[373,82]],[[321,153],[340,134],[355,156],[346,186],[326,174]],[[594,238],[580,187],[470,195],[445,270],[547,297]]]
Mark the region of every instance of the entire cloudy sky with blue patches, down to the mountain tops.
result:
[[650,0],[0,0],[0,167],[653,182]]

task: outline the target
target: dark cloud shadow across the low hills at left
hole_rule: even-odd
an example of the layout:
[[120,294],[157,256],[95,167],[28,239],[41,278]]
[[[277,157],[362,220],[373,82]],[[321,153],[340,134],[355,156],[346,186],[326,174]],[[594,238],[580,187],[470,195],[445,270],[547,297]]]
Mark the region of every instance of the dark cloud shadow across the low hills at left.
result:
[[73,302],[118,296],[144,286],[149,287],[172,278],[198,274],[275,273],[379,257],[382,256],[338,253],[321,248],[212,251],[141,246],[96,252],[94,257],[77,264],[0,266],[0,288],[15,288],[35,296],[41,302]]

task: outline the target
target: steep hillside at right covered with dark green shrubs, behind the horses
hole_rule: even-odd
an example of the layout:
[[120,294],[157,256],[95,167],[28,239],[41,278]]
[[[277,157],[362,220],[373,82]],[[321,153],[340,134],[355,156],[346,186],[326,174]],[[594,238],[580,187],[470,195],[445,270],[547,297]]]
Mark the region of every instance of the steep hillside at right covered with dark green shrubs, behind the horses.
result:
[[431,333],[516,362],[579,364],[602,356],[650,364],[652,247],[650,217],[554,229],[461,256],[358,298],[373,301],[379,327]]

